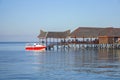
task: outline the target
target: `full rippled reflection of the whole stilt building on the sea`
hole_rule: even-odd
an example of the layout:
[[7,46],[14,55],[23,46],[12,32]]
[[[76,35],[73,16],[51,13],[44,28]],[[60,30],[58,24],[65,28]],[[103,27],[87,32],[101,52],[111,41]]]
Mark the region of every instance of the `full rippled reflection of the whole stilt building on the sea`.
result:
[[46,51],[37,55],[38,71],[45,74],[71,75],[70,73],[120,78],[120,50],[81,49]]

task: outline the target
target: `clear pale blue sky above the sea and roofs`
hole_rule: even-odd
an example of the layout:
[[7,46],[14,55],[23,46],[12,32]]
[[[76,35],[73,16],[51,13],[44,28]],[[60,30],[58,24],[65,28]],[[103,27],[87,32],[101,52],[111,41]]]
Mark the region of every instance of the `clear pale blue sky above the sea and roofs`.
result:
[[37,41],[40,29],[120,27],[120,0],[0,0],[0,41]]

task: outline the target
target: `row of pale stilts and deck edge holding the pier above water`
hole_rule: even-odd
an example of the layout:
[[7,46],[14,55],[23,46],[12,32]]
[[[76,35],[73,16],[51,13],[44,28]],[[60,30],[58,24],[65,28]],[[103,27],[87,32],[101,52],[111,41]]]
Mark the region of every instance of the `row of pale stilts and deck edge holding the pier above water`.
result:
[[47,50],[55,49],[120,49],[120,44],[73,44],[73,43],[58,43],[50,44],[47,46]]

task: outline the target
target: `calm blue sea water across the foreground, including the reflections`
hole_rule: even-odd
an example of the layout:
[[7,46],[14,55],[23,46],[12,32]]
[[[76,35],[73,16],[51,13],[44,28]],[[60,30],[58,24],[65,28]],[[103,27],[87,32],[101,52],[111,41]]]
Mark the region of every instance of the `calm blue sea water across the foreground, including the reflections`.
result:
[[120,80],[120,50],[25,51],[0,43],[0,80]]

